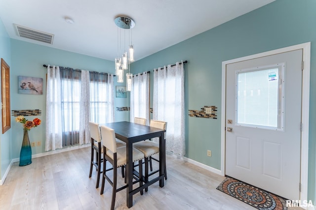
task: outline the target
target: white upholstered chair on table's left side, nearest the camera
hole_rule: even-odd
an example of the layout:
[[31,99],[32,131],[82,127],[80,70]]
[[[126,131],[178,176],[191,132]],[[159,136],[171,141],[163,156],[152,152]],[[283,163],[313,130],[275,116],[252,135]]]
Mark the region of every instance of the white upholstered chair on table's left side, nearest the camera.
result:
[[[117,188],[117,178],[118,178],[118,167],[126,165],[126,146],[123,147],[117,147],[116,144],[116,138],[115,138],[115,131],[112,128],[106,127],[104,125],[101,125],[101,135],[103,137],[103,175],[102,175],[102,185],[101,185],[101,191],[100,194],[103,194],[104,191],[104,184],[105,180],[108,180],[109,183],[113,187],[112,191],[112,203],[111,203],[111,210],[114,210],[115,206],[115,198],[116,193],[122,189],[126,188],[126,185]],[[138,161],[139,164],[139,185],[143,185],[143,170],[142,170],[142,160],[144,159],[144,154],[133,148],[133,162]],[[111,180],[106,172],[108,171],[106,169],[106,162],[109,161],[113,166],[113,180]],[[135,176],[134,176],[135,177]],[[141,191],[141,194],[143,191]]]

